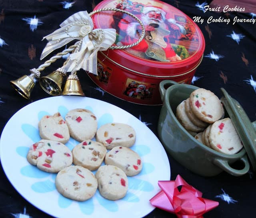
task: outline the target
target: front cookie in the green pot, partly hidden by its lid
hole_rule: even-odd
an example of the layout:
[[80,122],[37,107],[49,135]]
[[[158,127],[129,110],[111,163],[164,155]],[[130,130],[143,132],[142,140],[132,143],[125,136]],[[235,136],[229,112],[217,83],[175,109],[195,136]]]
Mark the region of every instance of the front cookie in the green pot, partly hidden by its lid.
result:
[[243,147],[230,118],[214,122],[208,140],[212,149],[224,154],[236,154]]

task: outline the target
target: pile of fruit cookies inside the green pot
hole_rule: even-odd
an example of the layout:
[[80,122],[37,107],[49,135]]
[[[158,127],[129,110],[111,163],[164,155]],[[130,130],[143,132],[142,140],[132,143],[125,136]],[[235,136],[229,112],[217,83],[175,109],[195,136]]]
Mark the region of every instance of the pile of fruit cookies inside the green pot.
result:
[[177,106],[176,118],[199,142],[218,152],[236,154],[243,147],[232,121],[224,118],[220,99],[209,90],[194,90]]

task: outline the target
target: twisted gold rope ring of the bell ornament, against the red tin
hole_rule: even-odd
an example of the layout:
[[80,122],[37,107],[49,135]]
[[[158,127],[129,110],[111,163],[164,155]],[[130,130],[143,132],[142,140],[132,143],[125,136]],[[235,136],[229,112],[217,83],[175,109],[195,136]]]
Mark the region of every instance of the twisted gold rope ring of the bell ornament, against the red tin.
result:
[[134,43],[132,43],[132,44],[130,44],[130,45],[126,45],[126,46],[110,46],[110,47],[109,47],[110,49],[125,49],[125,48],[131,48],[131,47],[133,47],[133,46],[138,45],[138,44],[143,40],[143,38],[144,38],[144,36],[145,36],[145,27],[144,27],[144,24],[143,24],[142,21],[141,21],[138,17],[136,17],[134,14],[132,14],[132,13],[130,13],[130,12],[128,12],[128,11],[122,10],[122,9],[118,9],[118,8],[101,8],[101,9],[95,10],[95,11],[93,11],[93,12],[90,12],[89,16],[91,17],[93,14],[96,14],[96,13],[99,13],[99,12],[103,12],[103,11],[116,11],[116,12],[122,12],[122,13],[124,13],[124,14],[128,14],[129,16],[131,16],[132,18],[134,18],[134,19],[140,24],[140,26],[141,26],[141,28],[142,28],[141,36],[140,36],[140,38],[139,38],[136,42],[134,42]]

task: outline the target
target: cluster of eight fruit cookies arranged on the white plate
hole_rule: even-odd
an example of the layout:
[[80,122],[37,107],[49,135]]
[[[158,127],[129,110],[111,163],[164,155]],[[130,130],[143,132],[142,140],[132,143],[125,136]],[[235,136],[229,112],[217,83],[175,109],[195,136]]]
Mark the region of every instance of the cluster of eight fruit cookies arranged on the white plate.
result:
[[[77,108],[68,111],[65,119],[59,112],[46,115],[38,127],[42,140],[30,147],[27,160],[40,170],[57,173],[56,188],[67,198],[85,201],[98,189],[104,198],[118,200],[128,191],[127,176],[142,170],[139,154],[130,149],[136,132],[128,124],[98,128],[90,110]],[[64,145],[71,137],[80,142],[72,150]]]

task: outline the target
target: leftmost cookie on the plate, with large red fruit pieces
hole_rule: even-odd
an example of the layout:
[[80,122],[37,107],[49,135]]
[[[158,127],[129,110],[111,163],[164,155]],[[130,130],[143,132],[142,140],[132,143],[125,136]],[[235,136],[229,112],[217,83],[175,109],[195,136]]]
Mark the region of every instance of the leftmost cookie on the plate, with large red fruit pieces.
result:
[[40,170],[56,173],[70,166],[73,162],[73,156],[64,144],[42,139],[30,147],[27,160]]

